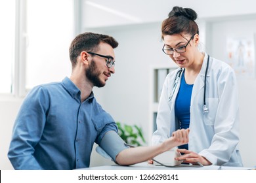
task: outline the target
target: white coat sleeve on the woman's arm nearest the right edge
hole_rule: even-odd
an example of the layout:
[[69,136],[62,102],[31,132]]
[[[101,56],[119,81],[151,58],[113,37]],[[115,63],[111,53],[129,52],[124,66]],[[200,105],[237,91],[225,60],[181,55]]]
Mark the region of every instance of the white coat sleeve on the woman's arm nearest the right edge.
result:
[[200,152],[205,157],[209,154],[209,159],[213,158],[213,164],[228,162],[239,142],[238,88],[232,69],[225,69],[219,76],[218,95],[219,105],[214,122],[215,135],[211,146]]

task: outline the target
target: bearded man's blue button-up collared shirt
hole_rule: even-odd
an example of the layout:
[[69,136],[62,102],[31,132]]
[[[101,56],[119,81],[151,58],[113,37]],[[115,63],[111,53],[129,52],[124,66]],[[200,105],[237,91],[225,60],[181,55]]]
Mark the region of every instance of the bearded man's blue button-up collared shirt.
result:
[[91,95],[81,102],[69,79],[33,88],[16,118],[9,159],[14,169],[89,167],[94,142],[116,131],[113,118]]

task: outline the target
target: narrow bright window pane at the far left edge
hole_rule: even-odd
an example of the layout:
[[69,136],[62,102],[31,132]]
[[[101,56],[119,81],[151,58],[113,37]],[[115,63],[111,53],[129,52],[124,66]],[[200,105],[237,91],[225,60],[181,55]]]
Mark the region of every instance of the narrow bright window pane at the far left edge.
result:
[[0,1],[0,93],[11,93],[14,63],[15,1]]

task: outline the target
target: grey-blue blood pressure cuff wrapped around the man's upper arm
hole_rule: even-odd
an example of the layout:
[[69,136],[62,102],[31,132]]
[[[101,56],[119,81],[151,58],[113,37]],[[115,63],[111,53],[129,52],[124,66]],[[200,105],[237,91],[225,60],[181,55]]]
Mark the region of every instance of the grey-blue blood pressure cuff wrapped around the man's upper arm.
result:
[[115,163],[117,154],[130,147],[119,137],[116,131],[108,131],[99,145],[96,147],[96,152],[106,159],[111,159]]

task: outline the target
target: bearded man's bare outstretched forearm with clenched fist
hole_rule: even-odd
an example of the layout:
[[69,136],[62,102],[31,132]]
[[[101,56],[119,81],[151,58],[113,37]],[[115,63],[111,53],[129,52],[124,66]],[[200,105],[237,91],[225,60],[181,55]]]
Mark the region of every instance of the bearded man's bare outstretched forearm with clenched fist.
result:
[[[114,131],[109,131],[108,133],[112,133],[112,135],[117,134]],[[158,145],[139,146],[135,148],[124,148],[117,154],[116,157],[112,157],[112,158],[115,159],[116,163],[119,165],[133,165],[135,163],[147,161],[148,159],[152,159],[158,154],[161,154],[162,152],[170,150],[171,148],[188,143],[188,133],[189,133],[189,129],[181,129],[181,130],[175,131],[172,137],[170,137],[169,139],[165,140],[164,142]],[[120,141],[120,139],[121,138],[118,135],[115,136],[115,142],[111,143],[113,146],[112,148],[116,148],[114,146],[119,146],[119,147],[123,146],[124,142]],[[110,151],[112,150],[108,150],[108,148],[110,147],[109,146],[104,147],[104,145],[106,146],[106,143],[101,144],[100,146],[102,146],[104,150],[111,156]]]

